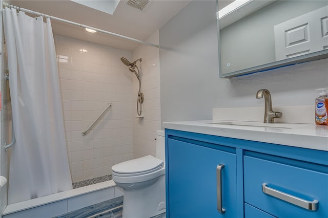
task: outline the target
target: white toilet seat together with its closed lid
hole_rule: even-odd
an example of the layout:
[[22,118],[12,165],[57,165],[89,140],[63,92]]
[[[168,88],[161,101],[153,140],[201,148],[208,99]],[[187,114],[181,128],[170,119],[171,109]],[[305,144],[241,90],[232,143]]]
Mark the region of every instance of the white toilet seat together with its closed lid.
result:
[[164,162],[151,155],[112,167],[113,180],[118,183],[144,182],[165,174]]

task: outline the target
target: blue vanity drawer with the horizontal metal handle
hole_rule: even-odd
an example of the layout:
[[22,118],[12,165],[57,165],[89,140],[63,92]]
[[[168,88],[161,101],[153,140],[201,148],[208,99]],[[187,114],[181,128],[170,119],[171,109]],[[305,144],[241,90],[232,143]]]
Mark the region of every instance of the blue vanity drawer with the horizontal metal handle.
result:
[[328,217],[328,174],[244,156],[244,201],[277,217]]

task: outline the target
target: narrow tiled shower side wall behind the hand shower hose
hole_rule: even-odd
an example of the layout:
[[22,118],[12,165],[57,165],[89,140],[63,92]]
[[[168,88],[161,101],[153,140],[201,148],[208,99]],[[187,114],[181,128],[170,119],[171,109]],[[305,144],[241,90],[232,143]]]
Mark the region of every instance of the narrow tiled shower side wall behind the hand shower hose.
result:
[[[152,34],[146,41],[159,43],[159,31]],[[136,104],[139,83],[133,75],[133,151],[134,158],[146,155],[155,156],[156,130],[160,129],[160,88],[159,88],[159,49],[140,45],[133,51],[133,60],[142,58],[140,71],[141,92],[144,93],[142,110],[144,118],[136,118]],[[139,64],[139,63],[138,63]],[[139,65],[138,65],[139,66]],[[129,71],[127,69],[127,71]]]

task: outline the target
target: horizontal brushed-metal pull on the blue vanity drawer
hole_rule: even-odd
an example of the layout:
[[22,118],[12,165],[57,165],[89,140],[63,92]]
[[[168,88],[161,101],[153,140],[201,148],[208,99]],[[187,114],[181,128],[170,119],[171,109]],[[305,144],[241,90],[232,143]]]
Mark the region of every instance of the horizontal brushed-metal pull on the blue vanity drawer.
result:
[[291,204],[294,204],[296,206],[305,208],[307,210],[312,210],[316,211],[318,209],[318,201],[313,200],[313,201],[306,201],[304,199],[297,198],[293,195],[284,193],[282,191],[278,191],[276,189],[270,188],[267,186],[267,183],[262,184],[262,191],[266,194],[269,194],[277,199],[289,202]]

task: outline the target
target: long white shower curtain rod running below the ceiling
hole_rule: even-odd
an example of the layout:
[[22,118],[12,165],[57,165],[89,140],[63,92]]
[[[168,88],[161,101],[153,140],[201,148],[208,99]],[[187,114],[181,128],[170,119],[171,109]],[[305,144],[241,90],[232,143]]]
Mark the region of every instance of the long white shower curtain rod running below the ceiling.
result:
[[66,20],[66,19],[61,19],[61,18],[54,17],[54,16],[50,16],[48,14],[43,14],[43,13],[32,11],[32,10],[29,10],[29,9],[20,8],[18,6],[10,5],[10,4],[5,3],[5,2],[3,3],[3,6],[8,7],[8,8],[14,8],[18,11],[24,11],[24,12],[34,14],[34,15],[37,15],[37,16],[44,16],[44,17],[47,17],[47,18],[49,17],[50,19],[58,20],[58,21],[61,21],[61,22],[67,23],[67,24],[75,25],[75,26],[82,27],[82,28],[88,28],[88,29],[91,29],[91,30],[96,30],[100,33],[105,33],[105,34],[108,34],[108,35],[117,36],[117,37],[120,37],[120,38],[125,38],[125,39],[131,40],[131,41],[135,41],[135,42],[139,42],[139,43],[142,43],[142,44],[145,44],[145,45],[148,45],[148,46],[153,46],[153,47],[159,48],[159,45],[155,45],[153,43],[149,43],[149,42],[146,42],[146,41],[141,41],[139,39],[131,38],[131,37],[124,36],[124,35],[119,35],[119,34],[116,34],[116,33],[112,33],[112,32],[106,31],[106,30],[101,30],[101,29],[98,29],[98,28],[90,27],[90,26],[87,26],[87,25],[78,24],[78,23],[75,23],[73,21]]

